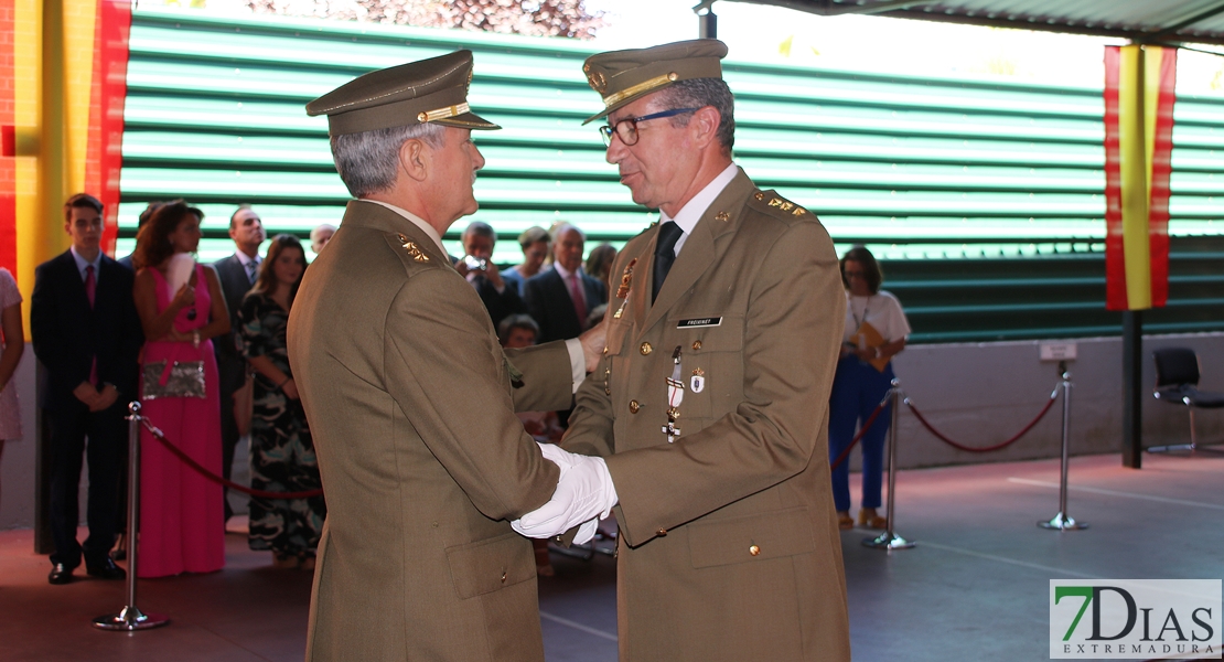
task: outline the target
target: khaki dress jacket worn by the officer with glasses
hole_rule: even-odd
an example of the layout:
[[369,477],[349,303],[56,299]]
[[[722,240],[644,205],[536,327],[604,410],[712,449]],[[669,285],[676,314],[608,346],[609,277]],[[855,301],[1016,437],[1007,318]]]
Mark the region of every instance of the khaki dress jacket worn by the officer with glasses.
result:
[[621,499],[621,660],[849,660],[827,450],[846,314],[832,241],[741,171],[651,305],[657,234],[617,256],[607,354],[563,439],[606,458]]

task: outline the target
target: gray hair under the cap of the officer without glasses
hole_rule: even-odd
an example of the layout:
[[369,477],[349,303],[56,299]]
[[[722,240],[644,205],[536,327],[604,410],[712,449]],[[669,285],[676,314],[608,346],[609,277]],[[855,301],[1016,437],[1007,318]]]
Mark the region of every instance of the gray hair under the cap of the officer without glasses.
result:
[[406,141],[415,138],[441,149],[444,136],[444,126],[428,122],[332,136],[332,159],[349,193],[361,198],[395,185],[399,148]]

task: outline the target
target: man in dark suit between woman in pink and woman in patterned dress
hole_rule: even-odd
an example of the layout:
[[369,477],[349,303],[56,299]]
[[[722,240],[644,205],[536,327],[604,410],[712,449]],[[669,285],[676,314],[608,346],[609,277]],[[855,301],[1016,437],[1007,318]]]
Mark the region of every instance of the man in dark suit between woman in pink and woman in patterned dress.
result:
[[[248,204],[239,206],[230,217],[230,239],[234,240],[236,251],[234,255],[218,261],[213,267],[217,277],[222,281],[222,292],[225,295],[225,306],[230,313],[229,335],[222,335],[213,341],[217,351],[217,372],[220,377],[222,396],[222,475],[229,480],[234,466],[234,447],[240,437],[237,420],[234,416],[234,394],[246,385],[247,365],[246,359],[239,350],[239,322],[237,310],[242,306],[242,297],[251,291],[255,279],[259,274],[259,245],[267,235],[263,231],[263,221],[259,214],[255,213]],[[225,499],[225,519],[234,513],[230,510],[229,498]]]

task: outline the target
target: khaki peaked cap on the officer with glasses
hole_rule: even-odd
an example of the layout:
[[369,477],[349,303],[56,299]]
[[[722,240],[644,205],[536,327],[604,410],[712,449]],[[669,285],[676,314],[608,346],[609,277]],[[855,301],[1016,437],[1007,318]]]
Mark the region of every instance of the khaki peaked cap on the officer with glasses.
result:
[[717,39],[692,39],[591,55],[583,65],[583,73],[586,73],[591,89],[603,97],[603,110],[586,117],[583,124],[677,81],[722,78],[720,60],[726,56],[727,44]]

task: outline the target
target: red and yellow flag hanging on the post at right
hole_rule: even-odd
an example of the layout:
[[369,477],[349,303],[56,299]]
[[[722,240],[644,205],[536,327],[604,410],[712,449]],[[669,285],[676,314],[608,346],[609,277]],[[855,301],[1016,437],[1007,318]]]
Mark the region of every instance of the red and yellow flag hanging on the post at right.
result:
[[1105,307],[1169,299],[1169,177],[1177,51],[1105,46]]

